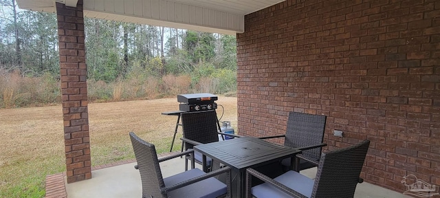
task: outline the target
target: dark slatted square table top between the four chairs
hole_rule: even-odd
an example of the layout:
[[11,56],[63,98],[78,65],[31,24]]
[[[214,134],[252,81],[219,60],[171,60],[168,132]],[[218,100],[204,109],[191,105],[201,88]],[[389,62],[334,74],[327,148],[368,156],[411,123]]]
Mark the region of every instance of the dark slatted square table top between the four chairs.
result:
[[300,153],[298,149],[267,142],[256,137],[238,137],[232,140],[194,146],[195,151],[219,160],[231,168],[244,169],[270,164],[280,158]]

